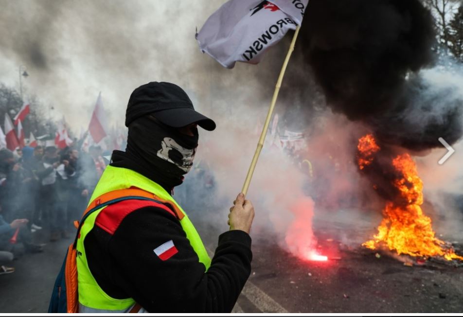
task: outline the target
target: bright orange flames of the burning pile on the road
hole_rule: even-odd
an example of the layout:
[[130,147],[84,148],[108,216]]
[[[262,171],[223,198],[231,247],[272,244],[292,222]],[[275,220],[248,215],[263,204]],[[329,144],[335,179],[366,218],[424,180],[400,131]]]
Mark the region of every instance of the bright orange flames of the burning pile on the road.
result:
[[[359,139],[357,162],[365,170],[374,162],[375,154],[381,150],[373,135]],[[363,244],[370,249],[387,247],[400,254],[414,257],[440,256],[450,261],[463,260],[451,247],[435,237],[431,219],[427,217],[423,204],[423,182],[418,176],[416,165],[409,154],[399,154],[392,159],[394,176],[392,186],[397,190],[394,201],[388,201],[383,210],[384,219],[374,239]]]

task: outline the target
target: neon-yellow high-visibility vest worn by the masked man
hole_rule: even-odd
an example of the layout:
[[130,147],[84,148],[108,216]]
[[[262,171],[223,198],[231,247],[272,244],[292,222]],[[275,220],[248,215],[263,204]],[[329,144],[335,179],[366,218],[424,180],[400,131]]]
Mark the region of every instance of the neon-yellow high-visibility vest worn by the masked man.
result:
[[[186,213],[181,209],[178,203],[168,194],[160,185],[149,178],[129,169],[107,166],[105,172],[100,178],[95,190],[93,191],[90,202],[95,198],[115,190],[128,189],[137,187],[144,191],[152,193],[154,199],[160,199],[169,203],[174,210],[180,212],[179,220],[182,229],[185,231],[191,246],[195,250],[198,260],[204,264],[205,271],[211,265],[206,248],[199,237],[195,227],[191,223]],[[122,313],[129,312],[135,304],[134,299],[114,299],[107,295],[98,283],[95,281],[89,270],[87,257],[85,254],[84,240],[86,235],[93,229],[95,219],[103,210],[95,211],[85,220],[80,230],[80,237],[77,240],[77,277],[79,292],[79,313]],[[82,311],[80,310],[82,308]]]

